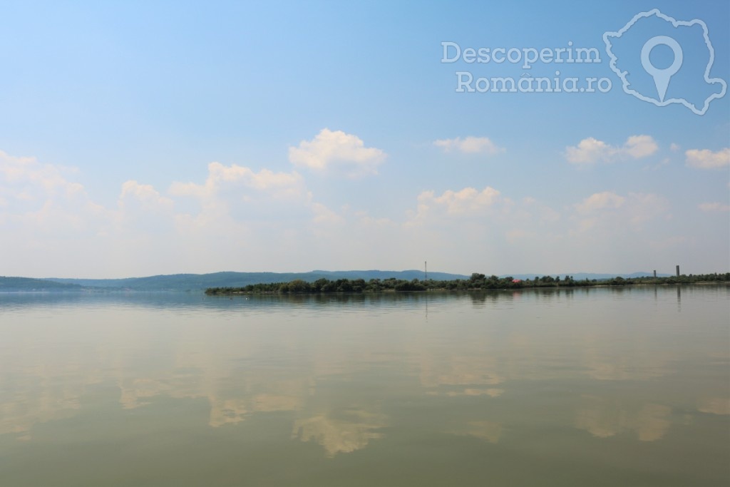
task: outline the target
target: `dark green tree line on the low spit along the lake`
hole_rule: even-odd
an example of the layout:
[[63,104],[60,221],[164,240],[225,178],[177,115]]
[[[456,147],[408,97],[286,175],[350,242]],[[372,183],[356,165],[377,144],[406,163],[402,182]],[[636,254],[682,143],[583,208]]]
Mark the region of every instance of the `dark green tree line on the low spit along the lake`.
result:
[[572,288],[593,285],[634,285],[634,284],[693,284],[730,282],[730,272],[700,275],[681,275],[680,277],[612,277],[605,280],[575,280],[572,276],[543,276],[534,279],[514,279],[512,277],[485,276],[475,272],[469,279],[432,280],[413,279],[337,279],[326,278],[308,283],[295,279],[288,283],[249,284],[239,288],[207,288],[205,294],[328,294],[328,293],[379,293],[384,291],[477,291],[488,289],[522,288]]

